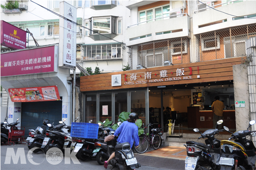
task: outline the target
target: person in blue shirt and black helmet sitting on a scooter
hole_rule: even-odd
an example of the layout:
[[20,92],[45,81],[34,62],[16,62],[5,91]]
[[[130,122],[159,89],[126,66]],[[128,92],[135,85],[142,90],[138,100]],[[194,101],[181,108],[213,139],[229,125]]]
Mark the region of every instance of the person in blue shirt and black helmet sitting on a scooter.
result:
[[[139,131],[135,122],[139,119],[137,113],[129,114],[129,119],[123,122],[115,131],[113,136],[118,136],[117,143],[125,143],[129,142],[132,148],[133,143],[135,142],[135,146],[139,145]],[[115,153],[113,152],[109,159],[104,162],[104,167],[108,168],[108,162],[115,157]]]

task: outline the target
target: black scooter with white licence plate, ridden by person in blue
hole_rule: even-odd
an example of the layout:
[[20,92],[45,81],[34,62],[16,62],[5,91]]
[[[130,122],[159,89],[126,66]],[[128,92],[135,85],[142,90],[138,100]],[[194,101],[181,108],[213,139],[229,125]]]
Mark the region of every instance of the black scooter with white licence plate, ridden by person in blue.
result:
[[[121,122],[118,122],[118,125],[121,125]],[[114,131],[110,132],[110,135],[113,135]],[[111,156],[115,152],[115,158],[110,160],[110,164],[113,167],[117,167],[119,170],[135,169],[141,167],[140,163],[137,162],[137,159],[134,157],[134,153],[131,149],[129,142],[116,144],[115,136],[114,140],[107,142],[108,146],[108,156]]]

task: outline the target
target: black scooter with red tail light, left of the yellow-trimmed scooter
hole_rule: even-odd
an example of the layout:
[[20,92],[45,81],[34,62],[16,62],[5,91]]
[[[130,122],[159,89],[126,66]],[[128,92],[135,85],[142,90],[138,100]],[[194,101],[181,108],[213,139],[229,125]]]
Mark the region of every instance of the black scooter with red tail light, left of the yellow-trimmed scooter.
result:
[[221,158],[221,141],[215,139],[215,134],[223,131],[217,129],[217,125],[221,125],[223,120],[219,120],[215,126],[215,129],[206,130],[201,133],[198,129],[194,129],[195,132],[199,132],[201,138],[207,138],[206,144],[194,141],[188,141],[186,144],[187,157],[185,160],[185,170],[197,169],[197,170],[216,170],[220,169]]

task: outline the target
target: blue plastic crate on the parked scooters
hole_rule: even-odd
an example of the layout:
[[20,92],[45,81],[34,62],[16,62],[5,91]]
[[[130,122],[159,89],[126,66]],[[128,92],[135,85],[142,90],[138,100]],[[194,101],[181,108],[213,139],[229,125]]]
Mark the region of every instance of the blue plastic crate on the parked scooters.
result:
[[98,124],[71,122],[71,137],[98,139],[98,131]]

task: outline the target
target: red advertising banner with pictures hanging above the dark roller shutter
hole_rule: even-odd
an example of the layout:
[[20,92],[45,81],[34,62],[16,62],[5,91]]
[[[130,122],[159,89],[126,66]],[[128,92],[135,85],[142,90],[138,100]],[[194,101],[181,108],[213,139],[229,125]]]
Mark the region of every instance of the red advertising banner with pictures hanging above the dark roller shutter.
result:
[[[9,88],[8,92],[12,102],[43,102],[61,99],[56,85],[35,88]],[[18,110],[20,111],[20,108],[17,108]]]

